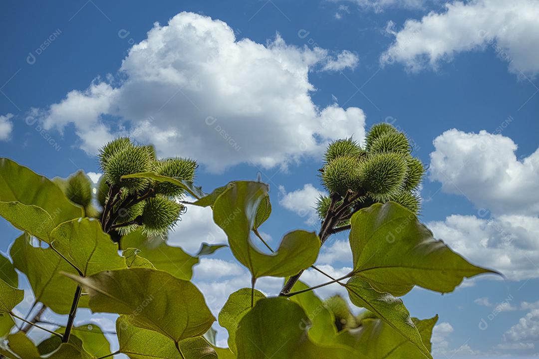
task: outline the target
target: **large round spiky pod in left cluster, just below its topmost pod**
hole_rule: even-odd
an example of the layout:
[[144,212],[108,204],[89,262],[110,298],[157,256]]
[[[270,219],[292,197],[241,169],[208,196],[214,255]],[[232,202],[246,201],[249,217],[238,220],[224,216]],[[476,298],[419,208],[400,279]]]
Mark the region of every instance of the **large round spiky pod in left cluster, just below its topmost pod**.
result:
[[113,154],[105,164],[103,177],[110,184],[126,188],[129,192],[141,191],[148,185],[143,178],[120,180],[123,175],[151,170],[150,155],[146,147],[126,147]]

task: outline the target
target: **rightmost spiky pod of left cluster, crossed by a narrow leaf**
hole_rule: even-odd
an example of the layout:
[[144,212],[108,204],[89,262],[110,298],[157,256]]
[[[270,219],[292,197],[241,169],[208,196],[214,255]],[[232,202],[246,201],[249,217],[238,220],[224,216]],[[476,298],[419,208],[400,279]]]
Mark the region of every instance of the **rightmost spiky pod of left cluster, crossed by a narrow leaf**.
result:
[[[188,158],[169,158],[156,163],[156,172],[167,177],[175,177],[184,181],[192,181],[195,178],[197,163]],[[169,182],[157,182],[156,193],[173,198],[181,198],[184,194],[182,187]]]

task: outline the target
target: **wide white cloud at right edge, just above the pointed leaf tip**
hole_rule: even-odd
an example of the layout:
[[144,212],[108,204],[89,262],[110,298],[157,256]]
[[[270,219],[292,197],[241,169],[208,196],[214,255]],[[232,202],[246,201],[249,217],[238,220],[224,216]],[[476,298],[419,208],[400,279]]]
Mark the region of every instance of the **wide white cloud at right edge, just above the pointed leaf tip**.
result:
[[508,279],[539,278],[539,218],[502,215],[495,219],[451,215],[427,223],[434,236],[476,265]]

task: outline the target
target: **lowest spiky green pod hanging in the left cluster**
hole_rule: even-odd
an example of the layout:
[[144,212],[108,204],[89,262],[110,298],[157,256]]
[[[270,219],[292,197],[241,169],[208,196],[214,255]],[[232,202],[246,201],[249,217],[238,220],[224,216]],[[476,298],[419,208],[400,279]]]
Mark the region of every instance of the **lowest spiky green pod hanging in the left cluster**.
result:
[[146,201],[142,211],[143,232],[146,235],[167,233],[178,221],[183,205],[157,196]]

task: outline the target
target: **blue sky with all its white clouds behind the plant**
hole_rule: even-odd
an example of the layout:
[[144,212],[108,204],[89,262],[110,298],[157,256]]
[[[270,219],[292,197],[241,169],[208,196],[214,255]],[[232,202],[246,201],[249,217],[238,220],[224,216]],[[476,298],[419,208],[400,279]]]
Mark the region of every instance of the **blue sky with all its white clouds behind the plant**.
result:
[[[49,177],[99,173],[96,148],[129,135],[156,144],[161,156],[198,159],[206,191],[260,173],[273,203],[261,229],[276,245],[288,230],[315,228],[328,140],[361,141],[372,124],[389,121],[430,166],[421,221],[507,277],[405,296],[412,315],[440,315],[435,357],[539,353],[539,2],[82,0],[0,8],[2,157]],[[224,241],[205,224],[210,217],[189,209],[172,243],[192,250]],[[17,231],[3,220],[0,228],[6,252]],[[319,264],[349,266],[345,240],[330,240]],[[225,293],[248,286],[226,251],[199,267],[196,283],[214,311]],[[308,276],[309,284],[321,280]],[[279,285],[260,283],[267,292]]]

